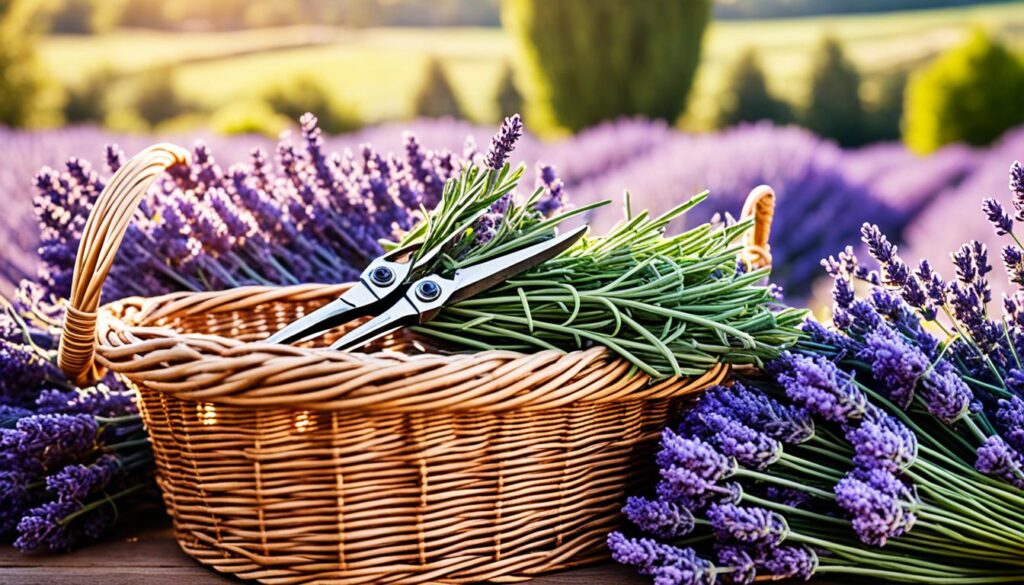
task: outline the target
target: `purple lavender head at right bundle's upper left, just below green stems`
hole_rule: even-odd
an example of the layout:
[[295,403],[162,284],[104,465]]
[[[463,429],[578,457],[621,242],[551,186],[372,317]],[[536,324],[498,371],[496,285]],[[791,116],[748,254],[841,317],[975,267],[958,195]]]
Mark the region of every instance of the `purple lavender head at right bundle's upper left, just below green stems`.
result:
[[769,368],[793,402],[833,422],[860,418],[867,396],[849,374],[821,356],[783,353]]

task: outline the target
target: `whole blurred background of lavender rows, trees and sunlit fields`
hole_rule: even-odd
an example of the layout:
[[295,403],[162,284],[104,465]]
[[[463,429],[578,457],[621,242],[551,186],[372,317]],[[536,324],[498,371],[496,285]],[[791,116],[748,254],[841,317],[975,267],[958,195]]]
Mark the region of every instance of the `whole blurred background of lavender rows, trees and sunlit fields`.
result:
[[865,220],[940,265],[998,249],[980,206],[1024,159],[1024,4],[0,0],[0,292],[38,268],[40,168],[158,137],[226,168],[305,112],[332,150],[409,129],[457,153],[521,112],[515,159],[578,205],[710,189],[705,219],[771,184],[776,279],[813,304],[818,260]]

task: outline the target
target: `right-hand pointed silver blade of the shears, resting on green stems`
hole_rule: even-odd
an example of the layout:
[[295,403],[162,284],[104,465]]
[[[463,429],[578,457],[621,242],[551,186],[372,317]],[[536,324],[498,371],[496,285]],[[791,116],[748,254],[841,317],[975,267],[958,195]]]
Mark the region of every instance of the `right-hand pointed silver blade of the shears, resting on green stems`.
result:
[[551,240],[545,240],[540,244],[534,244],[515,252],[498,256],[492,260],[459,269],[456,271],[454,278],[456,291],[452,293],[445,304],[452,304],[475,296],[493,286],[499,285],[516,275],[554,258],[571,248],[577,241],[583,238],[587,229],[587,225],[582,225],[575,229],[556,236]]

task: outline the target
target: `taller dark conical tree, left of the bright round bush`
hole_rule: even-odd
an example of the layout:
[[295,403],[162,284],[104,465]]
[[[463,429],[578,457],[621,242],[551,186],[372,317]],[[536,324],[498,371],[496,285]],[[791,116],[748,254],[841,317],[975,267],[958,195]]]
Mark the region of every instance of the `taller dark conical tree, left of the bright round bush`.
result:
[[817,48],[811,70],[810,96],[804,125],[844,147],[863,143],[864,107],[860,73],[839,41],[826,37]]

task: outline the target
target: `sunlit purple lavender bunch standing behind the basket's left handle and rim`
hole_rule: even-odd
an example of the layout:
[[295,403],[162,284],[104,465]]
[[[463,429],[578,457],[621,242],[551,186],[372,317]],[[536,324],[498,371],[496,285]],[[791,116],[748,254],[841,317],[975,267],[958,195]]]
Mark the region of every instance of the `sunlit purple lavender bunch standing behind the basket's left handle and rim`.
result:
[[[220,167],[200,142],[188,169],[163,177],[130,225],[104,295],[157,295],[247,284],[343,282],[408,231],[422,209],[440,200],[459,164],[450,152],[423,149],[408,135],[401,155],[369,145],[329,153],[316,119],[301,120],[299,143],[288,137],[271,157]],[[111,172],[124,153],[108,147]],[[36,177],[47,292],[66,296],[75,253],[92,204],[106,178],[72,158],[63,172]]]

